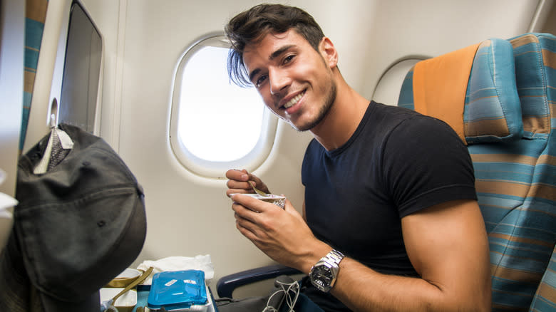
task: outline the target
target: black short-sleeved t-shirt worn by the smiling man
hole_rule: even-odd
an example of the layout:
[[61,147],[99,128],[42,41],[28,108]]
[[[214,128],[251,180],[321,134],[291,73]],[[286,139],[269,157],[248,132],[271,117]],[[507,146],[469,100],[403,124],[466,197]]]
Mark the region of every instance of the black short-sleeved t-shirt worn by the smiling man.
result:
[[[309,143],[302,182],[315,236],[383,274],[417,276],[401,218],[442,202],[476,199],[468,150],[449,125],[374,101],[341,147],[326,151],[316,140]],[[326,311],[349,311],[311,285],[305,293]]]

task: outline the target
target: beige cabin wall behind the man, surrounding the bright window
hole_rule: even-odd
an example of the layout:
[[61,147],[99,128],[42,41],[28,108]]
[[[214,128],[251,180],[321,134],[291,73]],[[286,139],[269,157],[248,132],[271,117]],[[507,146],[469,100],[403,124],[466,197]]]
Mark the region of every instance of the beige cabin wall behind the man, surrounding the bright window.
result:
[[[216,281],[272,263],[235,228],[226,180],[185,170],[168,140],[173,74],[180,56],[197,39],[222,31],[228,19],[259,2],[83,0],[104,38],[101,135],[145,189],[148,236],[135,264],[210,254]],[[369,99],[383,72],[401,58],[436,56],[485,38],[525,33],[538,3],[287,1],[307,9],[321,24],[339,50],[344,77]],[[388,88],[397,94],[399,85]],[[230,120],[230,129],[237,122]],[[303,202],[302,157],[311,137],[280,122],[269,159],[254,172],[297,209]],[[230,140],[241,137],[230,135]]]

